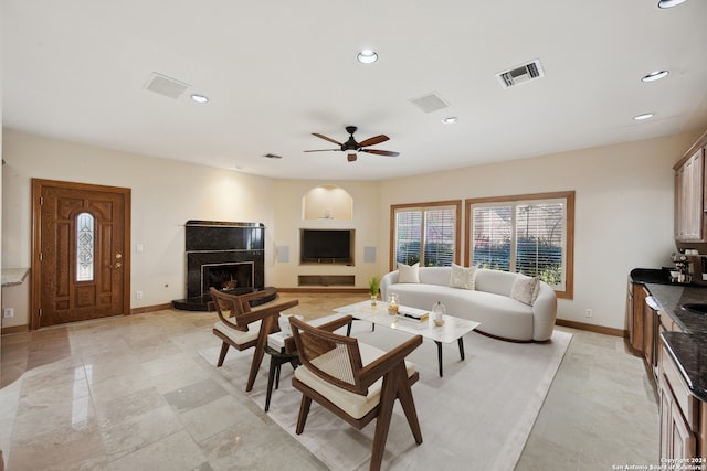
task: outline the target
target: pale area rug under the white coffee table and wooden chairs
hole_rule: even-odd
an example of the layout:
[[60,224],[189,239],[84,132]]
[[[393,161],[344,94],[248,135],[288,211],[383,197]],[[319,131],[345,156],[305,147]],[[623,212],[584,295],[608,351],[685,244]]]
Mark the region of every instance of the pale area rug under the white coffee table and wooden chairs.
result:
[[[382,327],[372,332],[370,324],[359,321],[352,335],[383,350],[409,338]],[[425,340],[409,356],[420,372],[412,392],[423,442],[415,445],[397,403],[382,468],[513,470],[571,339],[570,333],[556,331],[547,342],[511,343],[471,332],[464,336],[464,361],[456,343],[443,345],[443,377],[437,373],[436,346]],[[218,346],[200,353],[215,365]],[[231,349],[219,371],[243,390],[251,357],[250,351]],[[249,393],[260,407],[265,404],[268,362],[266,355]],[[296,435],[302,395],[291,378],[292,367],[283,365],[268,416],[330,469],[368,469],[376,424],[359,431],[313,404],[304,432]]]

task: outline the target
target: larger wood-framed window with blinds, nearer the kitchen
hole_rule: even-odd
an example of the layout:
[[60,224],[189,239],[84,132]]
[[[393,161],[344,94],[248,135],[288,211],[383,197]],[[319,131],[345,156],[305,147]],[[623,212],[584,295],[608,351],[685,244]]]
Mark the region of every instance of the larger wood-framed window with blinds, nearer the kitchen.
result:
[[467,265],[537,276],[572,297],[574,192],[467,200],[466,221]]

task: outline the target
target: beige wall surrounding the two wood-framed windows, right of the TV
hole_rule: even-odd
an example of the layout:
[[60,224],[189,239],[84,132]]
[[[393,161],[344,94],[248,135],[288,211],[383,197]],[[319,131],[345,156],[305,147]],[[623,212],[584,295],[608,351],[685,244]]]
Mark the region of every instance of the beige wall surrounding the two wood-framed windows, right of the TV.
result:
[[[576,191],[574,299],[559,300],[564,320],[625,328],[626,276],[669,264],[673,164],[697,135],[482,165],[387,181],[380,206]],[[388,251],[388,214],[380,237]],[[585,309],[592,318],[584,317]]]

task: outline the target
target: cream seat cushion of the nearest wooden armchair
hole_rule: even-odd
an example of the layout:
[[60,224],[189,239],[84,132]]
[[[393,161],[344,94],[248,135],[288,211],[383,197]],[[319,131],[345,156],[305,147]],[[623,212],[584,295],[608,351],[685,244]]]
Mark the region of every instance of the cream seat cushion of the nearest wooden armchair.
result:
[[[358,347],[361,353],[361,363],[363,366],[386,354],[384,351],[365,343],[359,343]],[[315,366],[326,371],[327,362],[335,361],[335,355],[329,355],[330,353],[334,353],[334,351],[315,358],[313,362],[316,362]],[[340,365],[341,364],[339,363],[338,366]],[[408,361],[405,361],[405,368],[408,371],[408,377],[412,376],[416,371],[414,364]],[[334,386],[333,384],[321,379],[304,365],[295,370],[295,377],[329,399],[339,409],[357,419],[360,419],[366,414],[370,413],[378,403],[380,403],[380,392],[383,386],[383,378],[380,378],[368,388],[368,394],[362,396]]]

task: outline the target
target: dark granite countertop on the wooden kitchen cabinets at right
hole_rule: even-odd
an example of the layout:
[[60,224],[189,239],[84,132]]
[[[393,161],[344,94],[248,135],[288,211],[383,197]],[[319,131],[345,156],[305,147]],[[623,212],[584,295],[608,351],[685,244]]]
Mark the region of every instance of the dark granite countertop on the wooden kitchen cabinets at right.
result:
[[[644,269],[640,269],[644,270]],[[683,309],[688,302],[707,303],[707,289],[692,285],[671,283],[656,272],[631,272],[633,282],[644,283],[683,332],[663,332],[661,338],[675,361],[690,392],[707,403],[707,314]],[[663,270],[656,270],[663,271]]]

